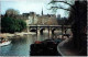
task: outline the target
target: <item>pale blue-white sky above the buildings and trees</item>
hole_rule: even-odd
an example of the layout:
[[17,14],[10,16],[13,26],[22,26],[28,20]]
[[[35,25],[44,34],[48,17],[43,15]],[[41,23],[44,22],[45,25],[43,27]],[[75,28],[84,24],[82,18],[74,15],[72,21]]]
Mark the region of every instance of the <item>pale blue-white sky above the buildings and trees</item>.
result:
[[[53,14],[53,12],[48,9],[48,2],[51,0],[2,0],[1,1],[1,14],[4,14],[8,9],[15,9],[22,13],[35,12],[36,14]],[[64,10],[58,10],[56,14],[61,14],[61,16],[68,16]]]

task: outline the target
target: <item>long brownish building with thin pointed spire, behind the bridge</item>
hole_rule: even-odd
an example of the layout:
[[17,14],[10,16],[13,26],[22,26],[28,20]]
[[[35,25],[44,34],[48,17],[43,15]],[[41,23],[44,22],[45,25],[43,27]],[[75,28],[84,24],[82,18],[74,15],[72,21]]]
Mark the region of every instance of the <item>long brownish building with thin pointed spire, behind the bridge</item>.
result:
[[42,15],[38,16],[37,24],[43,24],[43,25],[56,25],[56,15],[55,14],[43,14],[43,9],[42,9]]

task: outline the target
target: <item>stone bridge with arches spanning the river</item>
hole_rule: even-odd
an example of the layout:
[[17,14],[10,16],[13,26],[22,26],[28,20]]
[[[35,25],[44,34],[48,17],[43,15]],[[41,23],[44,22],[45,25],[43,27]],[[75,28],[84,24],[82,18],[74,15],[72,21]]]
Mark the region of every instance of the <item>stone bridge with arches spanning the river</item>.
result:
[[72,27],[70,25],[29,25],[28,32],[34,30],[36,34],[37,32],[43,34],[44,30],[48,30],[48,33],[54,34],[55,30],[62,30],[63,33],[66,33],[66,30],[70,27]]

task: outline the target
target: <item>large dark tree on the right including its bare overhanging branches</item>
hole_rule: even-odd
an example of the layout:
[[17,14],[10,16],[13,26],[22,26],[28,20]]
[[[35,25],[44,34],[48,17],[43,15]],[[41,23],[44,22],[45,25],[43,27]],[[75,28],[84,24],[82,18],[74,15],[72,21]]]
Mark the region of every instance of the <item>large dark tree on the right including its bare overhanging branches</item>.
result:
[[[75,1],[75,4],[70,4],[67,1],[52,0],[50,3],[63,2],[68,4],[70,8],[65,9],[63,7],[52,7],[51,9],[63,9],[69,11],[68,22],[72,24],[72,31],[74,37],[73,46],[80,50],[80,54],[87,55],[87,1]],[[67,22],[67,23],[68,23]]]

